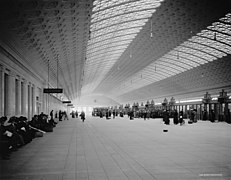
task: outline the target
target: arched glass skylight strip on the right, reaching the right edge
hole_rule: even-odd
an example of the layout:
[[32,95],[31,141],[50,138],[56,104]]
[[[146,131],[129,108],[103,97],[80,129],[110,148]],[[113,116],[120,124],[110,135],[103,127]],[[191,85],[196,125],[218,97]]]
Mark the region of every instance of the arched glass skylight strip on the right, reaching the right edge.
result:
[[[202,64],[217,60],[231,54],[231,13],[214,22],[205,30],[197,33],[184,43],[171,50],[163,57],[137,72],[122,82],[120,91],[113,90],[114,95],[123,94],[151,83],[163,80],[170,76],[190,70]],[[135,86],[130,82],[136,80]],[[148,81],[144,81],[148,79]]]

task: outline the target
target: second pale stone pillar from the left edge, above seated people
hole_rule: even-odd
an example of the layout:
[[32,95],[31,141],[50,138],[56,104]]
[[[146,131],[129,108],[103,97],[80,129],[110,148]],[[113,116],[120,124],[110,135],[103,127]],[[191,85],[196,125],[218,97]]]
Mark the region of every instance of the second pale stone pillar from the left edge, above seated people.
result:
[[15,74],[10,72],[8,79],[7,116],[15,116]]

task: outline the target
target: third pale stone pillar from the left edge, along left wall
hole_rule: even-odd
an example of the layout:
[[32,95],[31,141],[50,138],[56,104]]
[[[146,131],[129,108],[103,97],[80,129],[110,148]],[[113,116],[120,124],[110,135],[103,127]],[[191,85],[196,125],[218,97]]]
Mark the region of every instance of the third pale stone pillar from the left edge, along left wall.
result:
[[28,88],[27,88],[27,81],[23,80],[22,83],[22,115],[27,117],[28,116]]

